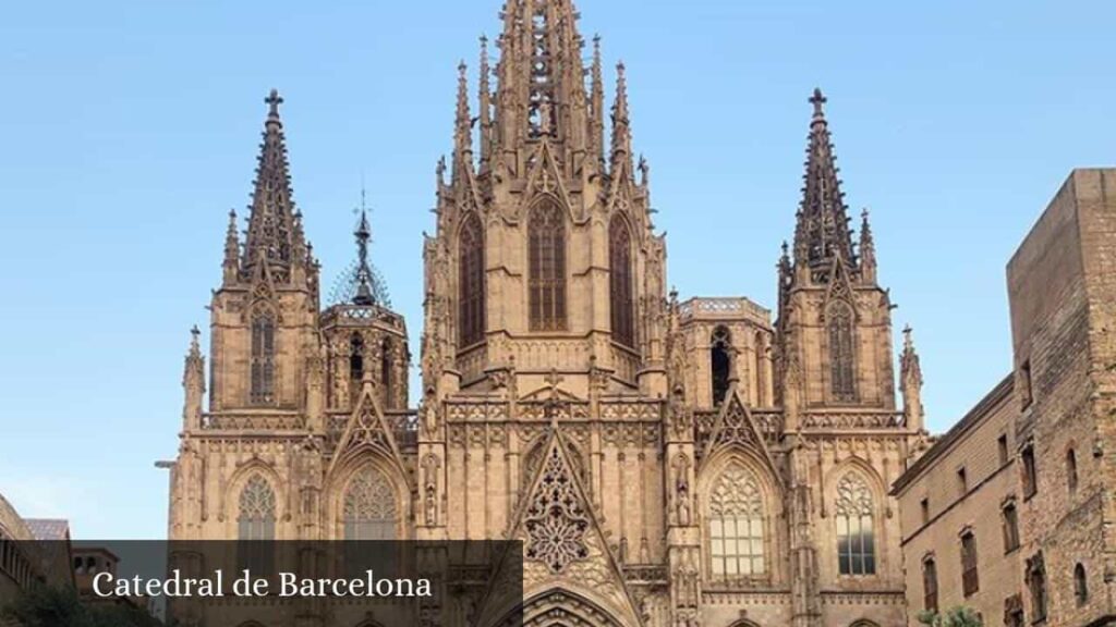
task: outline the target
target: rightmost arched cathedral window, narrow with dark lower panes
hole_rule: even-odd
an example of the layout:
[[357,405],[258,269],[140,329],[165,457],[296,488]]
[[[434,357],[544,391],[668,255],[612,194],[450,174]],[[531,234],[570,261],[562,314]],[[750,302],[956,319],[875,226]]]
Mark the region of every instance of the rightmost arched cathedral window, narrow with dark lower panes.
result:
[[859,473],[837,482],[837,565],[841,575],[876,573],[875,507],[872,490]]

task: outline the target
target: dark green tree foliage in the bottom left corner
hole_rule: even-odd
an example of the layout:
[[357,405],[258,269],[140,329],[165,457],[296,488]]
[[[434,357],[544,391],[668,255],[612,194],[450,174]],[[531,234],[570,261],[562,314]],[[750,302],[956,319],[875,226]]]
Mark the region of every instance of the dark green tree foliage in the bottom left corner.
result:
[[21,627],[163,627],[153,616],[131,605],[83,605],[69,588],[35,586],[0,609],[0,623]]

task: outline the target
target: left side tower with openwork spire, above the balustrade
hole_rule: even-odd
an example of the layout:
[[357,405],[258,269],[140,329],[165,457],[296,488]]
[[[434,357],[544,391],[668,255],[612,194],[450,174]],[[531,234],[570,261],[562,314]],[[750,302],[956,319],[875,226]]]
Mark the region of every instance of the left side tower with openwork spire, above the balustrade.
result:
[[300,357],[314,345],[318,263],[295,208],[279,105],[266,99],[243,245],[237,214],[229,214],[223,280],[211,303],[211,411],[301,411],[306,385]]

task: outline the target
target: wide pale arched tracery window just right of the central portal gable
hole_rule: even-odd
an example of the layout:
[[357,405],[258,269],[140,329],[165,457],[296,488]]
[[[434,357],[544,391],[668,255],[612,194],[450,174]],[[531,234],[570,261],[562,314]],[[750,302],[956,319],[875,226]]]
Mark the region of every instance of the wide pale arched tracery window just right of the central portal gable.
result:
[[739,579],[767,571],[763,495],[756,475],[740,464],[727,467],[710,492],[709,540],[713,577]]

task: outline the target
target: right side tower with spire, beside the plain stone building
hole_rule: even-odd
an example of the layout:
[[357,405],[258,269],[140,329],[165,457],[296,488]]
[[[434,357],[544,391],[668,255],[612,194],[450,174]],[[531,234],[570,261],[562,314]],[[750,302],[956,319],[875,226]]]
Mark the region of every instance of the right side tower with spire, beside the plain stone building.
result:
[[778,394],[789,430],[802,411],[895,409],[891,299],[876,281],[867,211],[854,245],[825,103],[815,89],[793,251],[783,245],[779,261]]

